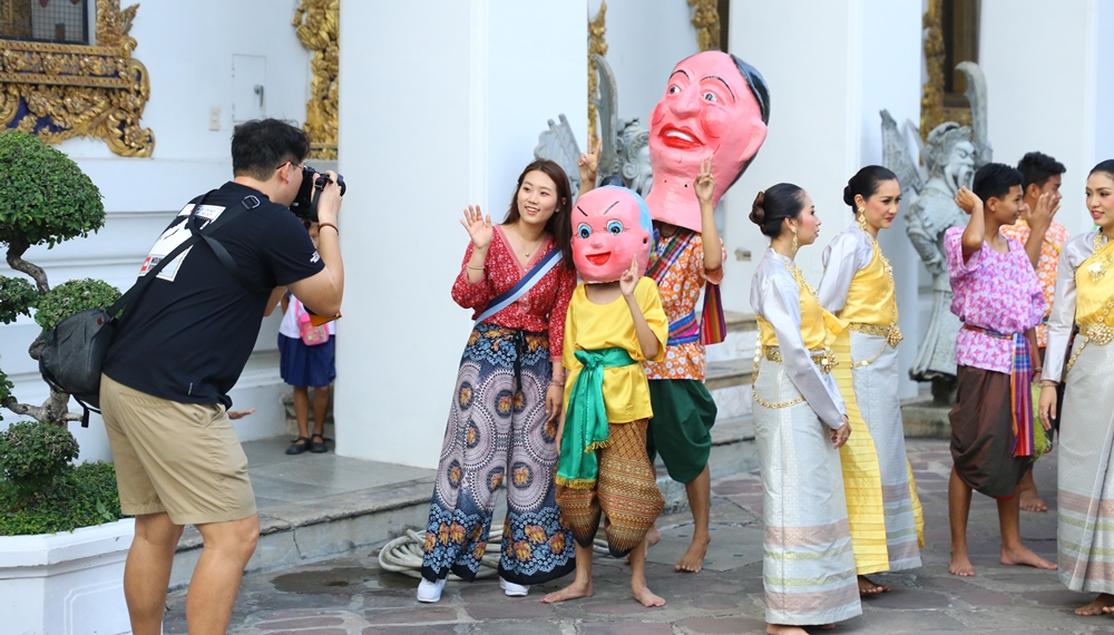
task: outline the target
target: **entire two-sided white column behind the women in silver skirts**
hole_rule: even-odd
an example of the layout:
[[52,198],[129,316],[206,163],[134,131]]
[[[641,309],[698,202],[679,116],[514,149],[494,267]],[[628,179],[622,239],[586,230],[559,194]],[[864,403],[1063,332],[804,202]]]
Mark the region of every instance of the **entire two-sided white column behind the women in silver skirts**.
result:
[[[920,21],[913,2],[732,3],[731,52],[765,77],[771,114],[765,144],[725,197],[729,309],[750,311],[750,279],[769,240],[747,215],[754,195],[775,183],[795,183],[815,202],[823,222],[820,241],[798,262],[813,284],[819,282],[823,246],[853,222],[843,204],[848,178],[863,165],[881,163],[878,111],[887,108],[898,121],[919,119]],[[916,333],[919,260],[900,223],[881,242],[898,281],[902,331]],[[751,260],[737,260],[736,251],[749,251]],[[911,356],[917,343],[902,349]],[[902,382],[902,395],[916,393],[916,384]]]

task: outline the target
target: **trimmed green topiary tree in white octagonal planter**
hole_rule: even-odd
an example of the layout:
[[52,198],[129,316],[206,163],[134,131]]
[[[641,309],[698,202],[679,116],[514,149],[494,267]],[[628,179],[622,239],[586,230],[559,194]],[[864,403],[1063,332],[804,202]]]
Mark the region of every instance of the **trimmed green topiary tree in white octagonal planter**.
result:
[[[119,291],[99,280],[53,289],[42,267],[23,260],[35,245],[85,237],[105,224],[100,192],[76,163],[19,131],[0,134],[0,243],[6,260],[30,276],[0,276],[0,322],[31,315],[42,333],[61,320],[107,307]],[[28,353],[38,359],[40,334]],[[0,406],[33,421],[0,434],[0,615],[16,633],[128,633],[124,561],[134,521],[121,519],[109,463],[74,466],[67,430],[80,416],[53,389],[39,406],[22,403],[0,370]],[[2,419],[2,417],[0,417]]]

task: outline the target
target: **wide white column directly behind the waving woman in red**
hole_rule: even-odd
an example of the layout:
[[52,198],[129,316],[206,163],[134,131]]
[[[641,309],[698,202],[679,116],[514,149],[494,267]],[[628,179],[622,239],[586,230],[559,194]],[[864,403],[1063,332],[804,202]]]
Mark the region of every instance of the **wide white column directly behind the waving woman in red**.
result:
[[338,453],[434,467],[469,312],[469,203],[502,219],[547,119],[587,129],[586,0],[344,2]]

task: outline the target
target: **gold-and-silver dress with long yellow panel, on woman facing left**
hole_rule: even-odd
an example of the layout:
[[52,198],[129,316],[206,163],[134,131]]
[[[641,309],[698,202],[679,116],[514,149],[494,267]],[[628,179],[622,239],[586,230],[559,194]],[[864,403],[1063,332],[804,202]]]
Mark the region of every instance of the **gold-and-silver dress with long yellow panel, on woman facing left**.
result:
[[925,518],[906,459],[898,399],[897,290],[878,241],[851,226],[824,250],[820,303],[848,323],[833,349],[851,421],[840,450],[860,575],[921,566]]

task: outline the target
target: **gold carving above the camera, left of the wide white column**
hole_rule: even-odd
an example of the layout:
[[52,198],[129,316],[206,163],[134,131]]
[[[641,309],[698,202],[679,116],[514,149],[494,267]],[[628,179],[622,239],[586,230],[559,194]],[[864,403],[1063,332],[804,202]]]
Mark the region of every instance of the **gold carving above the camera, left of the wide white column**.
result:
[[313,80],[305,104],[310,158],[335,160],[340,90],[340,0],[302,0],[293,26],[302,46],[313,51]]

